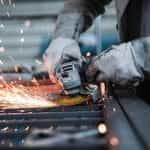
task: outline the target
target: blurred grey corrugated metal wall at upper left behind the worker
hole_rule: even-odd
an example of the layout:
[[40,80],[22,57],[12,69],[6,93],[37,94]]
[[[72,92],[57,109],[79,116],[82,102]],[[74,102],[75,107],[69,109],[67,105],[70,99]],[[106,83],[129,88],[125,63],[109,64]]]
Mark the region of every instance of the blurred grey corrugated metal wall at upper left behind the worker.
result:
[[[0,1],[0,67],[20,62],[37,64],[49,43],[63,0]],[[109,13],[111,12],[111,13]],[[114,9],[109,9],[103,31],[114,32]],[[90,30],[92,32],[92,30]]]

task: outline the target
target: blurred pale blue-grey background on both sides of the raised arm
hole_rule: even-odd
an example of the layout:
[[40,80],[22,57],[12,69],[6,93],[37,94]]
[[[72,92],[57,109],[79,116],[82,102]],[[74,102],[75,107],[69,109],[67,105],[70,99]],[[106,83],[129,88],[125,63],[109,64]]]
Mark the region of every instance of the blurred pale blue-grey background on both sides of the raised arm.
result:
[[[1,0],[0,68],[40,66],[63,5],[63,0]],[[82,34],[80,45],[82,50],[100,50],[118,42],[116,13],[111,3],[106,13]]]

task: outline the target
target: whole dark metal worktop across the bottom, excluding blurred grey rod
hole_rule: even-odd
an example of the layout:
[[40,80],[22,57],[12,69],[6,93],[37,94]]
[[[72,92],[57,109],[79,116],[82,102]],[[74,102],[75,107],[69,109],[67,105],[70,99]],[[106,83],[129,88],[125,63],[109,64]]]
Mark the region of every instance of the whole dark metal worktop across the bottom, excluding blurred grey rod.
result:
[[149,104],[130,94],[116,94],[105,104],[1,110],[0,149],[27,149],[25,139],[35,128],[75,133],[96,129],[99,123],[106,123],[108,133],[105,136],[60,141],[43,149],[147,150],[150,149],[149,114]]

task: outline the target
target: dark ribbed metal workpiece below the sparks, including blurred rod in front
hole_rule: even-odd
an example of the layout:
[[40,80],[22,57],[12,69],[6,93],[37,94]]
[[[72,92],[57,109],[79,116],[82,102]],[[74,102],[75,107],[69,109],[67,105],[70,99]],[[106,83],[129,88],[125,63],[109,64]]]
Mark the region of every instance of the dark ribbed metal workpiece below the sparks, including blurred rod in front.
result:
[[97,130],[105,122],[102,104],[1,110],[0,122],[0,142],[5,148],[108,149],[105,135]]

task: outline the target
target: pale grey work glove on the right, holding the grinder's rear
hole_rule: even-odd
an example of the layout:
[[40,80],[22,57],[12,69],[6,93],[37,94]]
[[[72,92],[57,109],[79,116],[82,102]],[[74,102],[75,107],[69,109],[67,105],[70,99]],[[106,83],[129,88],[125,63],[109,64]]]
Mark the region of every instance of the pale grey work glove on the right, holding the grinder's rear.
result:
[[87,80],[137,86],[143,79],[142,66],[139,63],[143,61],[137,56],[132,42],[112,46],[93,58],[86,72]]

